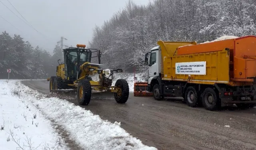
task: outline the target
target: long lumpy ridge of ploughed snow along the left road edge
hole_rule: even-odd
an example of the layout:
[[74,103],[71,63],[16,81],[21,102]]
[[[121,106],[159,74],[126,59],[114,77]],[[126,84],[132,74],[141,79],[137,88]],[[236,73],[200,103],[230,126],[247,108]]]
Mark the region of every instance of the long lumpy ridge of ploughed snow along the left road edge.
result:
[[[6,84],[3,80],[1,82],[1,84]],[[45,118],[57,124],[54,128],[58,130],[60,126],[65,130],[69,140],[75,141],[75,144],[79,146],[76,147],[77,149],[157,150],[154,147],[145,146],[140,140],[128,134],[120,127],[122,123],[115,122],[112,124],[107,120],[104,121],[89,110],[75,106],[66,100],[47,97],[47,95],[24,86],[17,80],[10,80],[8,85],[13,89],[19,89],[22,98],[36,107],[38,111],[44,114]],[[6,139],[4,140],[6,141]],[[63,136],[60,140],[62,143],[65,142]]]

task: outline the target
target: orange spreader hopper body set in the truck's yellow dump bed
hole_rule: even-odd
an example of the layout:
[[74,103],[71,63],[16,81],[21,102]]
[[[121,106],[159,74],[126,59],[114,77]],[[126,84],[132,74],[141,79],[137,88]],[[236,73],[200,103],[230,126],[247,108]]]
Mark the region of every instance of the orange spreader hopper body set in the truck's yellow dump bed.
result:
[[[230,80],[252,82],[256,77],[256,36],[179,47],[177,56],[229,50]],[[221,61],[218,63],[222,63]],[[207,64],[206,64],[207,65]]]

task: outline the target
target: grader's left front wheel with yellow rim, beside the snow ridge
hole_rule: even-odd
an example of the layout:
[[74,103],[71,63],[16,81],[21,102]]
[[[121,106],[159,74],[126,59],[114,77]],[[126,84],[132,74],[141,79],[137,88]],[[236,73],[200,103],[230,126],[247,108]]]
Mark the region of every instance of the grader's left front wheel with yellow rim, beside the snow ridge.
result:
[[92,96],[92,88],[90,81],[85,79],[78,83],[77,86],[77,101],[80,105],[88,105]]

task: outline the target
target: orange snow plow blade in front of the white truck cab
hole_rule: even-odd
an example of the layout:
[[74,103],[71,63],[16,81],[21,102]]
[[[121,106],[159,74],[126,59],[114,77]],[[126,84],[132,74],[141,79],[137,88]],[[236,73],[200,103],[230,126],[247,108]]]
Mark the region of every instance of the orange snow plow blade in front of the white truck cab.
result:
[[148,82],[135,82],[133,93],[134,96],[153,96],[153,93],[148,91]]

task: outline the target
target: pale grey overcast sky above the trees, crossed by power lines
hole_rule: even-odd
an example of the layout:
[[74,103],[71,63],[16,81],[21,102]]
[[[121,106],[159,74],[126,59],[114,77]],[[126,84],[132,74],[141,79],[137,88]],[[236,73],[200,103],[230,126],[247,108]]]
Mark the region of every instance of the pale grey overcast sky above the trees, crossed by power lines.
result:
[[[22,16],[8,1],[35,30],[22,21]],[[147,4],[150,0],[132,1]],[[52,54],[61,36],[68,39],[65,45],[88,45],[95,25],[101,26],[126,2],[128,0],[0,0],[0,32],[6,30],[11,36],[20,34],[33,47],[38,45]]]

